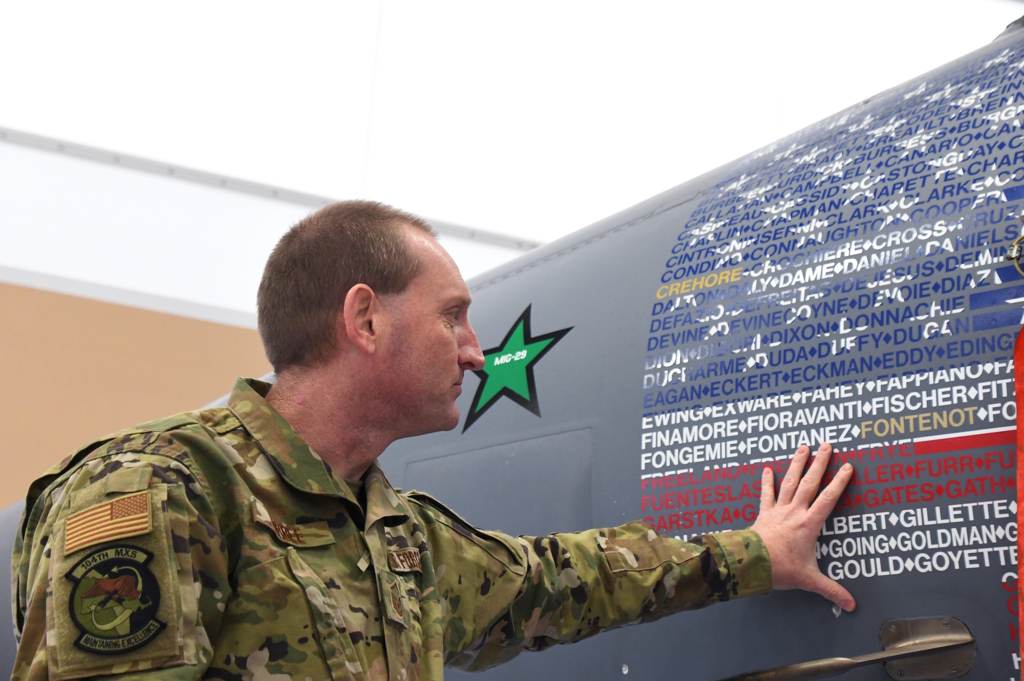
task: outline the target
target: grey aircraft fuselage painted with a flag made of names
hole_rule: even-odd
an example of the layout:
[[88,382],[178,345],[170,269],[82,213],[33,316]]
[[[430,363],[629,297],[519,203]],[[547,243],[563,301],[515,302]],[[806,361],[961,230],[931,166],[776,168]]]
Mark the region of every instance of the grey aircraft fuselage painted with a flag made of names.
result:
[[464,420],[383,458],[470,521],[687,539],[750,526],[800,445],[856,469],[817,544],[856,611],[773,593],[486,678],[710,680],[879,651],[883,623],[930,616],[976,638],[966,678],[1020,678],[1022,69],[1006,34],[470,282],[487,363]]

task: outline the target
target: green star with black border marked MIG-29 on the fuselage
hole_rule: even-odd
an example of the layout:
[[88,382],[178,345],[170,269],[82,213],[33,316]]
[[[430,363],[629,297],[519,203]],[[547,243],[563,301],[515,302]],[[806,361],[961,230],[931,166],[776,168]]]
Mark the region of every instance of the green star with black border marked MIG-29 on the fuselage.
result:
[[534,365],[562,339],[572,327],[563,328],[544,335],[532,336],[529,332],[529,310],[527,306],[512,328],[505,334],[502,345],[483,351],[483,368],[474,371],[480,377],[480,384],[473,396],[473,404],[466,415],[462,432],[476,422],[493,404],[504,395],[520,407],[541,415],[541,405],[537,401],[537,382],[534,380]]

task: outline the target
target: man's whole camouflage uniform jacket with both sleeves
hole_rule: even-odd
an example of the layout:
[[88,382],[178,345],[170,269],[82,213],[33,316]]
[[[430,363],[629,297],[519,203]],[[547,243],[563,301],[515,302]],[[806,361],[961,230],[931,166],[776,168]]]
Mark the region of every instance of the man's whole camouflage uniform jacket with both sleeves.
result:
[[750,531],[640,523],[513,538],[375,464],[366,510],[240,379],[37,481],[13,555],[13,678],[441,679],[523,649],[767,592]]

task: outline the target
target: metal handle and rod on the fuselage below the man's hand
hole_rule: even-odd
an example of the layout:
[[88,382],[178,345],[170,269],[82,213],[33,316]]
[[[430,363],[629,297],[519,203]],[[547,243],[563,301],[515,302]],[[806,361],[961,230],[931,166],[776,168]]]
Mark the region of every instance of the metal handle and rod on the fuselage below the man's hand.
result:
[[721,681],[808,681],[845,674],[857,667],[885,663],[897,681],[951,679],[971,671],[977,655],[974,636],[956,618],[890,620],[879,632],[881,652],[855,657],[825,657],[798,665],[749,672]]

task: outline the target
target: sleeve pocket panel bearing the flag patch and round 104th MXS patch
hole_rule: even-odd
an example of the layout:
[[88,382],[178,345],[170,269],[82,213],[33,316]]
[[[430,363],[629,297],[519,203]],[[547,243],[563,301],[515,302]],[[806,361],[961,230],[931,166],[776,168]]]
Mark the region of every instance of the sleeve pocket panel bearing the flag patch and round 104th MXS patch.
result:
[[[47,678],[144,676],[196,664],[193,564],[187,553],[174,551],[172,532],[180,537],[187,528],[184,494],[181,485],[154,485],[98,499],[53,523],[47,572],[36,580],[46,585]],[[77,535],[70,541],[69,520]],[[120,536],[129,533],[130,539]],[[68,552],[68,546],[80,548]]]

